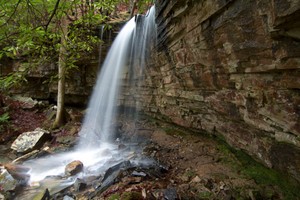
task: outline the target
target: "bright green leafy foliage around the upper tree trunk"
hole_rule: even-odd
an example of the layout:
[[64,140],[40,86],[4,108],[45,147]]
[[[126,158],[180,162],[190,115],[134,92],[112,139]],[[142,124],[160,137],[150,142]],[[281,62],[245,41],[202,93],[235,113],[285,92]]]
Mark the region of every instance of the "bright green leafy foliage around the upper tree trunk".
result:
[[18,61],[22,70],[0,77],[1,88],[9,89],[25,80],[27,72],[58,62],[62,19],[67,19],[68,69],[93,51],[100,40],[95,27],[105,23],[107,13],[114,10],[120,0],[0,0],[0,60]]

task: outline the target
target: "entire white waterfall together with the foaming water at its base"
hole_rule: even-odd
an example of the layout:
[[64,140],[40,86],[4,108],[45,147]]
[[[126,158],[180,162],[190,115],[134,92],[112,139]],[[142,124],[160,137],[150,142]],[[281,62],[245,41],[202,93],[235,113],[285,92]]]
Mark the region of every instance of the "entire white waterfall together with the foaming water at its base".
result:
[[[146,54],[156,38],[154,18],[155,8],[152,7],[147,15],[135,16],[121,29],[98,75],[79,133],[78,144],[69,152],[25,162],[24,165],[31,168],[31,183],[41,181],[47,176],[63,176],[65,166],[74,160],[80,160],[84,169],[72,177],[70,183],[77,177],[97,176],[109,167],[128,160],[133,151],[139,151],[136,149],[138,145],[132,145],[126,148],[127,150],[118,149],[112,124],[119,115],[116,107],[121,92],[122,73],[128,70],[131,73],[130,77],[134,77],[143,72]],[[130,161],[148,162],[141,157]]]

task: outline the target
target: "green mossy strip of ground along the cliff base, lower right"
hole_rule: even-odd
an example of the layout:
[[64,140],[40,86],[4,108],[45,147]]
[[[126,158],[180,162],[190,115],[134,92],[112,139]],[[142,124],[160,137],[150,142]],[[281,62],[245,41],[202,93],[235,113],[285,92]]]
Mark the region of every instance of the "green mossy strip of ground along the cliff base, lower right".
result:
[[[224,155],[221,158],[222,162],[232,165],[240,174],[253,179],[261,188],[267,188],[268,186],[279,188],[284,199],[300,199],[300,186],[294,179],[274,169],[265,167],[242,150],[232,148],[224,140],[220,138],[218,140],[220,142],[218,146],[219,152]],[[269,190],[262,192],[265,198],[272,198],[272,195],[274,195]]]

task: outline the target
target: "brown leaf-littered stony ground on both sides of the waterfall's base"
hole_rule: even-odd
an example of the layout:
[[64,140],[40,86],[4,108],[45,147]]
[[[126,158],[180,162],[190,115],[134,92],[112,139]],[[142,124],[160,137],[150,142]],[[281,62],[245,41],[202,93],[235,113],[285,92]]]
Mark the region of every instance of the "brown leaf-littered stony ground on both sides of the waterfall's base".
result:
[[[49,128],[51,106],[31,107],[15,100],[0,99],[0,163],[18,158],[10,149],[22,132],[37,127]],[[71,148],[77,141],[83,112],[68,109],[68,123],[51,130],[52,138],[44,144],[50,152]],[[5,118],[8,113],[9,118]],[[71,186],[52,199],[300,199],[299,186],[278,172],[260,165],[242,151],[230,148],[222,140],[190,132],[147,116],[138,121],[118,119],[121,132],[144,138],[143,152],[160,166],[159,172],[146,168],[127,168],[105,190],[94,182],[84,188]],[[42,147],[42,148],[44,148]],[[103,184],[103,182],[102,182]],[[1,194],[1,187],[0,187]]]

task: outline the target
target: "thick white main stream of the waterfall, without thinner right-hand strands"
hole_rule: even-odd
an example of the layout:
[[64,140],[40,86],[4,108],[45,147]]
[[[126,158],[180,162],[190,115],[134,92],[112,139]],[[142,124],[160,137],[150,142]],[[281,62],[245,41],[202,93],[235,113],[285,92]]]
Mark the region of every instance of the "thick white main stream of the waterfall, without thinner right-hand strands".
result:
[[122,68],[127,64],[132,33],[136,27],[131,19],[115,39],[104,61],[94,88],[88,111],[80,132],[79,149],[98,147],[111,142],[111,122],[116,115],[116,100]]

